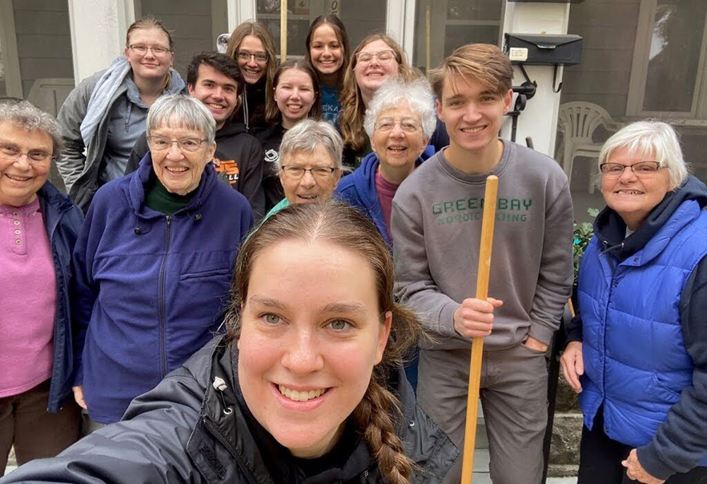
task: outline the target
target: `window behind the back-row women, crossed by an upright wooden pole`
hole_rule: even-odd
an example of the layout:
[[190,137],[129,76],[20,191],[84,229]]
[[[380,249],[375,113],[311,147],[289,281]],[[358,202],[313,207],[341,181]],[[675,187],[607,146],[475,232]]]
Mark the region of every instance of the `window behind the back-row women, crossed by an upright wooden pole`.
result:
[[[386,2],[380,0],[295,0],[287,6],[287,54],[303,56],[310,23],[336,13],[346,25],[351,49],[374,32],[385,32]],[[280,50],[280,0],[258,0],[257,19],[267,25]]]

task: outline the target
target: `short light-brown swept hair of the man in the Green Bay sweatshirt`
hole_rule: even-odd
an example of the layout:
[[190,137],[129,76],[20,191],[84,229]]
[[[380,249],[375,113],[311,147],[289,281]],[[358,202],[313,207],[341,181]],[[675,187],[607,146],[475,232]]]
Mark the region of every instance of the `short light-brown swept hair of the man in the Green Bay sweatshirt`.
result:
[[433,69],[430,83],[438,100],[448,76],[468,76],[479,81],[493,93],[506,95],[513,85],[513,66],[503,51],[491,44],[467,44],[452,52]]

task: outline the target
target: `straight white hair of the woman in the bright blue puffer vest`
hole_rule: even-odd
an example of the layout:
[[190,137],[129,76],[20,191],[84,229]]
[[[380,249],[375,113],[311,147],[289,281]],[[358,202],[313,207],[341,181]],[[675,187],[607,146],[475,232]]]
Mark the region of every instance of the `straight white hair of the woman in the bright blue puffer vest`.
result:
[[650,161],[657,161],[667,168],[673,189],[679,187],[689,175],[677,132],[670,124],[646,119],[624,126],[604,143],[598,165],[607,163],[612,152],[619,148],[625,148],[630,155],[652,153],[653,160]]

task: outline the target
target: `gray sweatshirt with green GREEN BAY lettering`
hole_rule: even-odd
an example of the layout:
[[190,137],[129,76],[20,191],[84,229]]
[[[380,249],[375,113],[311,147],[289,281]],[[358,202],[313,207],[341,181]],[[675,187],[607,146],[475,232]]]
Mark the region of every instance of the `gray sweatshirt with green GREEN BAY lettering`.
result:
[[469,175],[443,150],[420,165],[393,199],[395,291],[442,336],[427,349],[469,348],[452,315],[475,297],[486,177],[498,176],[489,297],[493,331],[484,348],[510,348],[525,336],[549,343],[571,293],[572,200],[551,158],[503,141],[493,170]]

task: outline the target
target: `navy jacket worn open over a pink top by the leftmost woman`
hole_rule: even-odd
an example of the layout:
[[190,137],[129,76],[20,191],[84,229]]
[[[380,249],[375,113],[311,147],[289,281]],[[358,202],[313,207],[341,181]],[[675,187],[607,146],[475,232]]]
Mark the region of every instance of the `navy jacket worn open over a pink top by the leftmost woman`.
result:
[[69,287],[73,278],[71,252],[83,222],[83,212],[69,196],[62,194],[49,182],[37,191],[40,211],[44,219],[49,245],[52,247],[54,272],[57,276],[57,308],[54,312],[54,358],[52,380],[49,384],[47,411],[58,412],[66,401],[74,399],[71,374],[74,358],[71,353],[71,306]]

